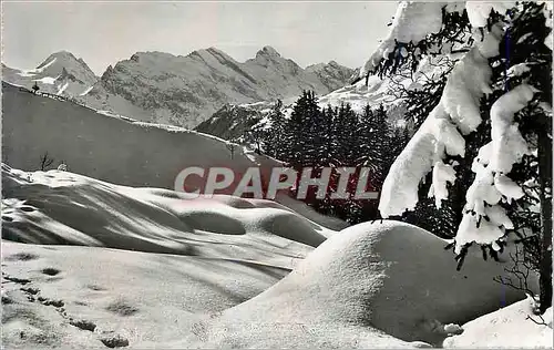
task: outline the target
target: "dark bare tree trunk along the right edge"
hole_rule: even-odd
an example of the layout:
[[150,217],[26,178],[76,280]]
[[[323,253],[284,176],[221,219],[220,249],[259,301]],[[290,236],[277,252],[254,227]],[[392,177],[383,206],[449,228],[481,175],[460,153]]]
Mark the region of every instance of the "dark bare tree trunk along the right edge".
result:
[[550,130],[538,131],[538,183],[541,199],[541,312],[552,306],[552,140]]

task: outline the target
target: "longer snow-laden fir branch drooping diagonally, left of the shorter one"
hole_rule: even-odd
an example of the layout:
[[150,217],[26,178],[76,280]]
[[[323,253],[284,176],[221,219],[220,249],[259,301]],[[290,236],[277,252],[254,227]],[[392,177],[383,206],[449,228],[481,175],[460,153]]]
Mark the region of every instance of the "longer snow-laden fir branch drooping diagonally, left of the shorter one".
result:
[[[435,168],[431,193],[440,206],[447,198],[447,182],[454,181],[447,155],[464,156],[463,135],[481,124],[479,100],[491,92],[492,70],[488,59],[499,54],[503,30],[495,25],[483,41],[475,43],[460,60],[448,79],[439,104],[431,111],[389,171],[381,191],[381,216],[402,215],[418,203],[418,186]],[[400,189],[400,191],[399,191]]]

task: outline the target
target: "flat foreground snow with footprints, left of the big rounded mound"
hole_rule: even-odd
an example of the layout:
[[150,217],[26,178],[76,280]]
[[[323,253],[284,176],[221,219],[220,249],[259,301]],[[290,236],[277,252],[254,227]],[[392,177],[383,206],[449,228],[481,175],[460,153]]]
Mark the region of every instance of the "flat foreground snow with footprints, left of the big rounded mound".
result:
[[239,259],[6,240],[2,265],[8,349],[167,349],[289,271]]

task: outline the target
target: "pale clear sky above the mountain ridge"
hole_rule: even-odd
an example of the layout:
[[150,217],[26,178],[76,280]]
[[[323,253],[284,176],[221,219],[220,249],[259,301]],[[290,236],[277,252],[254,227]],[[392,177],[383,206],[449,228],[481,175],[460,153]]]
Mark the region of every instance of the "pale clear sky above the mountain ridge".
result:
[[137,51],[186,55],[215,47],[243,62],[271,45],[301,66],[335,60],[356,68],[388,32],[396,7],[396,1],[3,1],[2,62],[31,69],[66,50],[100,75]]

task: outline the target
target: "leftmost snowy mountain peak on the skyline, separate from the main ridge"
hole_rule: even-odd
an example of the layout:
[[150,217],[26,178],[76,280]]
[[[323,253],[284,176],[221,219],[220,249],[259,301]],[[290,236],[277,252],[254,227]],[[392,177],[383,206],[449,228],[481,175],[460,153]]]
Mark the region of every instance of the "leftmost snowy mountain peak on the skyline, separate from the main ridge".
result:
[[75,97],[86,94],[99,78],[82,59],[60,51],[33,70],[13,69],[2,63],[2,80],[28,89],[37,82],[41,92]]

